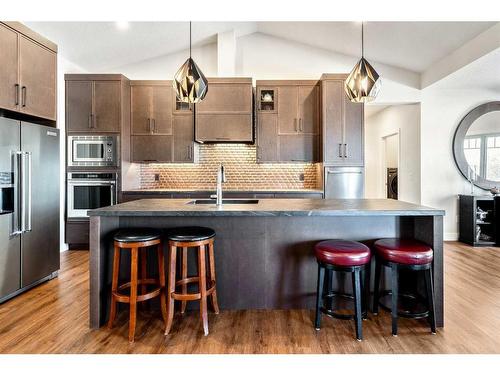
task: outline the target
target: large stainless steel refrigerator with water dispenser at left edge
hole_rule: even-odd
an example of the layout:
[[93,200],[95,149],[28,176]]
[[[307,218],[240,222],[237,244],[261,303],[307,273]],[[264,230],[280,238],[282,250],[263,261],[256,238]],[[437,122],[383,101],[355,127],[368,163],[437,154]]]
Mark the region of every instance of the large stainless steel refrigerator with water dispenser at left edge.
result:
[[59,270],[59,130],[0,117],[0,302]]

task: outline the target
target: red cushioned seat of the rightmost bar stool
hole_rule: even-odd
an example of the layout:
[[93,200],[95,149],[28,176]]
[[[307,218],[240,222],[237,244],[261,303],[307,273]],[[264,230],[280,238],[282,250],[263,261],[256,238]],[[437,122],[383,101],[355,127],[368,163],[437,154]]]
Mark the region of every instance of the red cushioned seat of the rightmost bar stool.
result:
[[373,245],[380,258],[399,264],[429,264],[434,254],[431,247],[417,240],[384,238]]

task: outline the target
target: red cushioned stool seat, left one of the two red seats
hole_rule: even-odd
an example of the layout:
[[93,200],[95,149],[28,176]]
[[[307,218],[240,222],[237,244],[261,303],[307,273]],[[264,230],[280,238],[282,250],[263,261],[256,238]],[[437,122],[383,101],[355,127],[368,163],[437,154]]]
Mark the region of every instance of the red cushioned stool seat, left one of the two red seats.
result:
[[370,261],[370,249],[356,241],[327,240],[314,247],[316,259],[334,266],[362,266]]

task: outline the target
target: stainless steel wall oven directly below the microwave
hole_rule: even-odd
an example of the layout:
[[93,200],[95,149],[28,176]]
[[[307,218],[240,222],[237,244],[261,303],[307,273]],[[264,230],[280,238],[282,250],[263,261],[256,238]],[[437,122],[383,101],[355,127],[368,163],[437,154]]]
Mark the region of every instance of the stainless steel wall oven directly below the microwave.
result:
[[68,173],[68,218],[85,218],[88,210],[115,204],[117,180],[117,173]]

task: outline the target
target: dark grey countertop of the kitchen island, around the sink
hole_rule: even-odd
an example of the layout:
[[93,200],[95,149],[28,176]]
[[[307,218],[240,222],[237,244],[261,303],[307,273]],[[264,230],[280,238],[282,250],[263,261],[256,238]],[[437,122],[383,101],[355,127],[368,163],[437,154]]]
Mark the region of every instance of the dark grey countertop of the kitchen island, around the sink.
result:
[[257,204],[188,204],[140,199],[88,211],[89,216],[443,216],[443,210],[392,199],[259,199]]

